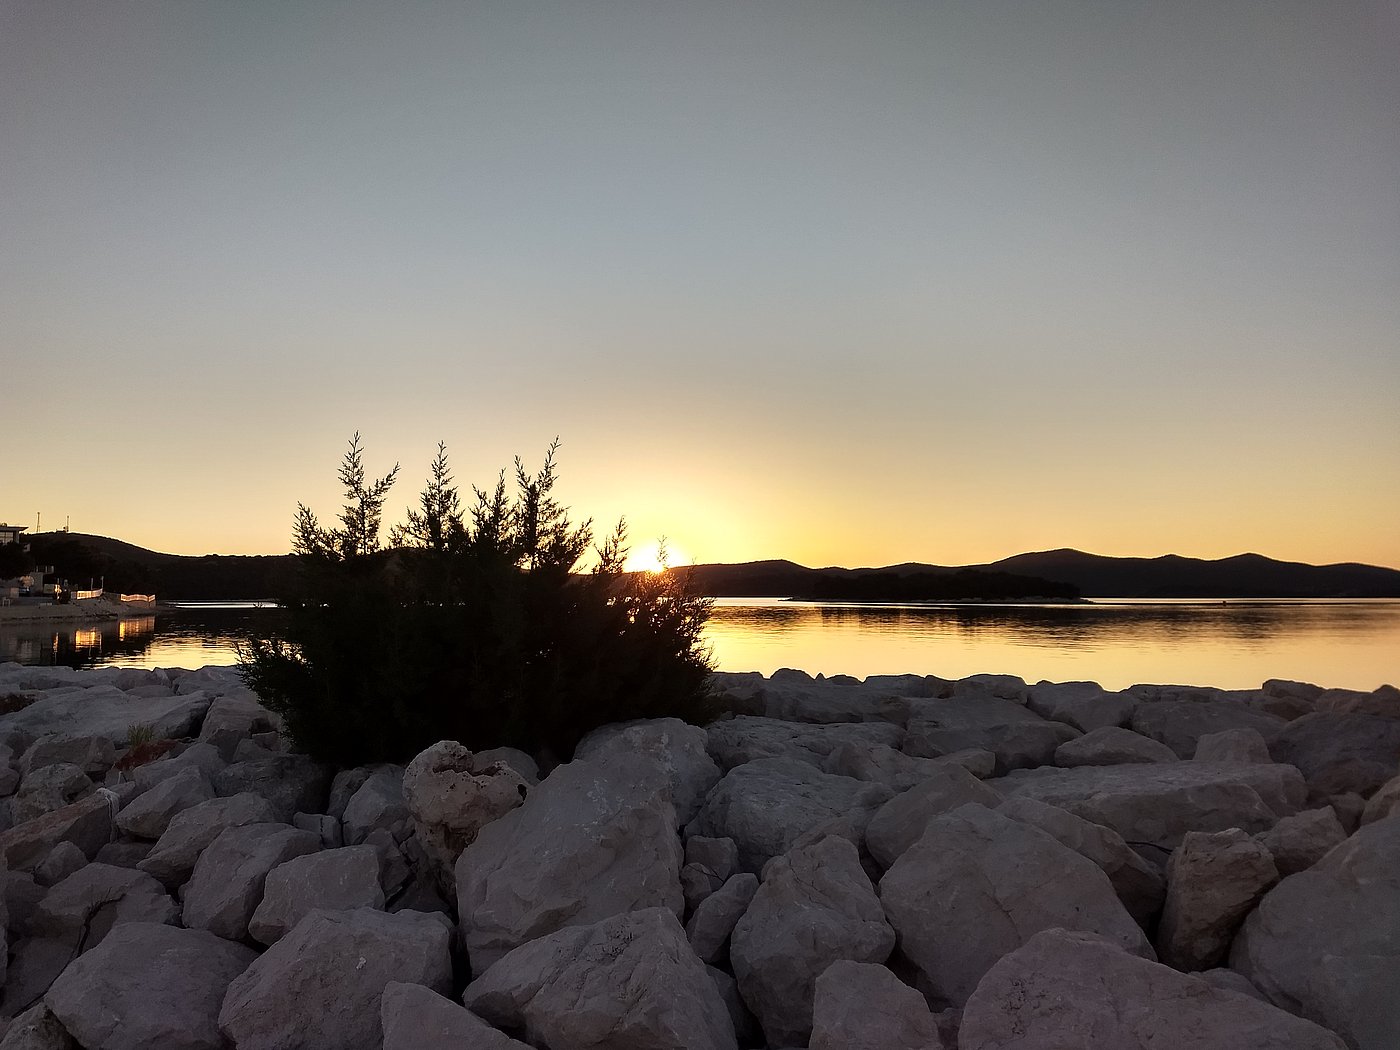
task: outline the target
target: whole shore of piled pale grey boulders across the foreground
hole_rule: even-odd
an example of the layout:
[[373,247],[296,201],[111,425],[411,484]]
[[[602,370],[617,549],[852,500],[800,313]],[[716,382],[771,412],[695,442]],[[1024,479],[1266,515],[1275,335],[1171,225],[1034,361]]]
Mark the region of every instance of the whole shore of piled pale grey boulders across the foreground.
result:
[[1400,690],[715,682],[333,770],[0,664],[0,1050],[1400,1046]]

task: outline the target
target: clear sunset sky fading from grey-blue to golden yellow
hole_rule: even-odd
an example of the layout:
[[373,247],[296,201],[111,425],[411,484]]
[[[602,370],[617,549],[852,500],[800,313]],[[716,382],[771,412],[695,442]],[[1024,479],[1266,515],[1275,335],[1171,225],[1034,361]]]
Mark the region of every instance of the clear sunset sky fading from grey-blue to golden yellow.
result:
[[0,521],[1400,567],[1400,8],[0,4]]

